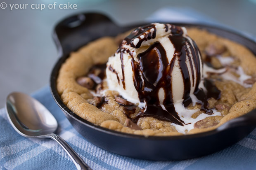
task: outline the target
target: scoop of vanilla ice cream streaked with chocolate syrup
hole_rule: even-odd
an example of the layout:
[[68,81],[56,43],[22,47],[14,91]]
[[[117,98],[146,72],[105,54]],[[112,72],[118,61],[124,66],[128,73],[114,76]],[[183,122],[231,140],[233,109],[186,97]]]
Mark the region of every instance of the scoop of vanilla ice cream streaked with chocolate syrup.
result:
[[196,101],[202,84],[199,50],[184,27],[136,28],[107,62],[107,84],[139,107]]

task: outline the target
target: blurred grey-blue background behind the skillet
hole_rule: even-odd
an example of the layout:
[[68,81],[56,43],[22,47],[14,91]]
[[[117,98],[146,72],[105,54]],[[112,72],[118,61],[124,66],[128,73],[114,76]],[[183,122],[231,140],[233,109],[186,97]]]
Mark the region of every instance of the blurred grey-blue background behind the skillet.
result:
[[[7,7],[5,8],[6,3]],[[57,2],[77,9],[31,9],[30,5]],[[101,12],[126,25],[154,19],[162,8],[193,14],[256,36],[256,0],[0,0],[0,107],[12,91],[33,93],[49,84],[57,61],[52,31],[60,20],[81,12]],[[27,9],[9,5],[28,4]],[[17,7],[17,5],[16,5]],[[159,15],[161,17],[161,15]],[[168,16],[163,16],[168,18]],[[178,19],[178,16],[176,17]],[[190,18],[188,18],[190,19]],[[177,20],[175,20],[177,21]]]

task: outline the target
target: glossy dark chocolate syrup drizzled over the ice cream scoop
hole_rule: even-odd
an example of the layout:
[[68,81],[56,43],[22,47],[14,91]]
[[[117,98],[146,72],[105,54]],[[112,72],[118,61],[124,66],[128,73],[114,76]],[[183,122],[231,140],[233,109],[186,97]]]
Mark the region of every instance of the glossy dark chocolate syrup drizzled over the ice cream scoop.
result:
[[[121,79],[121,81],[123,84],[123,88],[125,89],[123,53],[130,53],[130,56],[132,57],[131,64],[133,69],[134,86],[137,90],[140,102],[146,102],[147,108],[144,108],[144,111],[139,112],[137,116],[133,119],[130,115],[134,114],[134,107],[124,106],[127,110],[125,114],[135,123],[140,117],[151,116],[159,120],[170,121],[180,126],[184,126],[184,121],[180,119],[178,113],[175,111],[173,103],[173,93],[171,90],[171,75],[176,60],[178,60],[183,76],[183,105],[185,107],[192,103],[192,100],[190,98],[191,85],[195,86],[194,95],[198,98],[202,110],[206,112],[208,111],[207,100],[209,98],[220,98],[220,91],[218,90],[218,88],[216,88],[216,86],[212,84],[212,82],[208,80],[205,80],[204,82],[204,85],[208,91],[206,94],[202,89],[198,88],[201,79],[200,65],[202,63],[200,63],[200,56],[198,54],[199,49],[195,42],[192,41],[192,45],[189,39],[183,37],[183,30],[181,27],[173,25],[171,25],[171,27],[169,25],[168,27],[168,25],[165,24],[165,31],[167,32],[169,29],[171,29],[171,34],[168,36],[168,38],[172,42],[173,47],[175,48],[174,56],[170,62],[168,62],[164,47],[161,45],[160,42],[157,41],[154,42],[154,44],[152,44],[146,51],[137,54],[136,60],[128,49],[122,47],[122,44],[129,44],[133,48],[140,48],[143,41],[155,38],[156,28],[154,24],[142,26],[135,29],[130,35],[128,35],[128,37],[124,39],[122,44],[120,44],[119,49],[116,51],[116,53],[120,53],[120,59],[122,62],[123,79]],[[135,45],[133,42],[136,38],[139,39],[139,42],[137,42],[137,44]],[[190,81],[190,71],[186,63],[187,59],[192,70],[192,82]],[[194,67],[196,68],[195,72],[193,69],[194,67],[192,65],[192,61],[194,63]],[[111,70],[111,68],[109,68],[109,70]],[[111,71],[115,72],[113,68]],[[165,109],[161,107],[158,97],[160,88],[164,89],[165,93],[165,98],[162,103]],[[208,114],[210,114],[210,112]]]

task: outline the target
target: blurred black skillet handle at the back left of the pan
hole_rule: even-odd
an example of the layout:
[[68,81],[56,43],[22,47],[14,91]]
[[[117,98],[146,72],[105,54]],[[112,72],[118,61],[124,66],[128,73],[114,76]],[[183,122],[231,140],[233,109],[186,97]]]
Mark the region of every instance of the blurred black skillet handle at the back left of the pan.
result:
[[100,13],[84,13],[70,16],[59,22],[52,37],[59,56],[66,56],[88,42],[103,36],[115,36],[118,26],[108,16]]

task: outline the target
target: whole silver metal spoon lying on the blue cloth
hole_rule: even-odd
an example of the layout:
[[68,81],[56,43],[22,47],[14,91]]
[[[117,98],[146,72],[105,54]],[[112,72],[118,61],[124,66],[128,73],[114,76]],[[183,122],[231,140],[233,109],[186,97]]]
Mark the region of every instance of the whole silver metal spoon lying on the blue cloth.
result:
[[7,96],[5,108],[12,127],[20,135],[51,138],[61,145],[78,170],[91,170],[67,142],[53,133],[57,130],[58,123],[38,100],[24,93],[14,92]]

